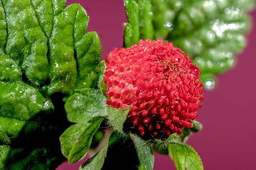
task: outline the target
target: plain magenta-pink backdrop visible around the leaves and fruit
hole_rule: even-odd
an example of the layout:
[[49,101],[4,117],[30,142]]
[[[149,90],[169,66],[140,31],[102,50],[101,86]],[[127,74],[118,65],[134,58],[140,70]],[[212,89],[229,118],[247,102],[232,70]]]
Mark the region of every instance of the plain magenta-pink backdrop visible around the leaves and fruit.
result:
[[[90,16],[88,31],[102,42],[102,58],[122,47],[126,22],[123,0],[67,0],[80,3]],[[256,23],[256,10],[251,12]],[[256,25],[248,34],[248,46],[238,55],[237,66],[219,75],[215,90],[205,91],[197,118],[201,132],[188,144],[201,156],[205,170],[256,170]],[[78,170],[82,162],[57,170]],[[170,158],[155,154],[154,170],[175,170]]]

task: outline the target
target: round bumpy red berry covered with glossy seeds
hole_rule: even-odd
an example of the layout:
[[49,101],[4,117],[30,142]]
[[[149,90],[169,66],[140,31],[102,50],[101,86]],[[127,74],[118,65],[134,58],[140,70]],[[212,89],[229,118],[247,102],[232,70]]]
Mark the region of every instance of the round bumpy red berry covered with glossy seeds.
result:
[[172,43],[146,39],[111,51],[105,60],[107,104],[130,107],[126,124],[147,139],[182,134],[203,100],[200,70]]

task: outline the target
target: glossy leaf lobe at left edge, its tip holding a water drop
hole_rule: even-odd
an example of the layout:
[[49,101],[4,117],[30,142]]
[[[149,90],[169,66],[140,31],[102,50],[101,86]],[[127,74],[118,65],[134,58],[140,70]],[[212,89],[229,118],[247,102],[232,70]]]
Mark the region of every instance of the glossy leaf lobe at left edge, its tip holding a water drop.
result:
[[44,113],[42,119],[53,113],[53,103],[30,85],[23,82],[1,82],[0,89],[1,117],[38,121],[36,116],[40,112]]

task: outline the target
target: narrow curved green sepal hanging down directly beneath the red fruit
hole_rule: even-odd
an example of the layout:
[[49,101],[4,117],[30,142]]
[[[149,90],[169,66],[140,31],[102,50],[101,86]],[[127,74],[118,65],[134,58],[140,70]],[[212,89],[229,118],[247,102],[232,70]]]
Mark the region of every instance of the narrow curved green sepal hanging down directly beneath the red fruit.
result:
[[136,134],[129,134],[137,151],[140,165],[139,170],[153,170],[154,155],[147,142]]

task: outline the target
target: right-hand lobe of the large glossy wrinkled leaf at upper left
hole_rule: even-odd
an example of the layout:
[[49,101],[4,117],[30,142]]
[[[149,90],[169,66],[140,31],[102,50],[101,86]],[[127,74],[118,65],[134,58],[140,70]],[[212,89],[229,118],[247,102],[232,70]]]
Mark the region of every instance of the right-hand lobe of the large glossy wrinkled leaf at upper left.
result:
[[100,62],[101,46],[95,33],[84,35],[88,22],[85,10],[78,4],[71,4],[61,13],[56,12],[54,20],[49,39],[51,83],[47,95],[72,94],[74,88],[91,87],[97,77],[91,72]]

